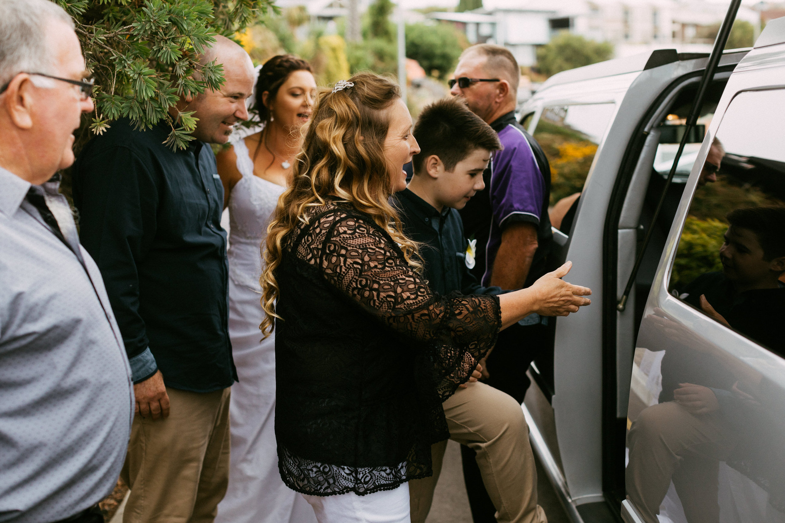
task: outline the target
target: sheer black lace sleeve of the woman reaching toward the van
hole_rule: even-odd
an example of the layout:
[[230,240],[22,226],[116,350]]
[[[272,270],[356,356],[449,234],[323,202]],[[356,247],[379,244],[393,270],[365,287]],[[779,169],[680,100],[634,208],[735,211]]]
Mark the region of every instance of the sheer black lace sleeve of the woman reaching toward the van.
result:
[[312,242],[299,245],[300,254],[368,314],[428,347],[442,398],[469,379],[496,343],[498,296],[435,295],[389,236],[361,217],[330,213],[314,229]]

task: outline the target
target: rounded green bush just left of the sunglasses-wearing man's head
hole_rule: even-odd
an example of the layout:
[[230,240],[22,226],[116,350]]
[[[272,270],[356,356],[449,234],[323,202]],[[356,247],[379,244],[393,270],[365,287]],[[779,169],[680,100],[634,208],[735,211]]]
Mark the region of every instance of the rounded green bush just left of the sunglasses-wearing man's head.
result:
[[428,74],[444,78],[458,64],[462,51],[458,31],[451,24],[406,26],[406,56],[417,60]]

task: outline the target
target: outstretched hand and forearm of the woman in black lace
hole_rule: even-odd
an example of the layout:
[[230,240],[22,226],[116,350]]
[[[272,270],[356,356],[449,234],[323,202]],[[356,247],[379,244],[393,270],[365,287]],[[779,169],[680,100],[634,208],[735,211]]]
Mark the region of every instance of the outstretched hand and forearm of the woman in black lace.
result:
[[502,307],[502,329],[536,312],[542,316],[567,316],[578,312],[580,307],[591,303],[591,289],[572,285],[561,278],[572,267],[572,262],[564,263],[556,271],[549,272],[535,281],[527,289],[508,292],[498,296]]

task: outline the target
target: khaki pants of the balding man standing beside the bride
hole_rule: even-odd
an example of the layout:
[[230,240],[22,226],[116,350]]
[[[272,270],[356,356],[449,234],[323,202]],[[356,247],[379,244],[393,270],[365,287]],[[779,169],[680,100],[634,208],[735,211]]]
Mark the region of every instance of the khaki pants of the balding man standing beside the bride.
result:
[[166,387],[170,416],[136,416],[121,477],[131,489],[123,523],[203,523],[229,478],[230,389]]

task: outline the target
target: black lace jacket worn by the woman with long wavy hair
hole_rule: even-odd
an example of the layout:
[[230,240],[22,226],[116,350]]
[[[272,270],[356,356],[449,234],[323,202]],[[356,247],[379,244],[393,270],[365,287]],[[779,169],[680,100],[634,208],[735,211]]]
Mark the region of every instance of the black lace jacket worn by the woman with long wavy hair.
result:
[[438,296],[367,215],[328,202],[276,270],[276,438],[283,481],[369,494],[432,474],[441,402],[493,347],[497,296]]

